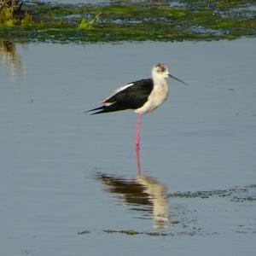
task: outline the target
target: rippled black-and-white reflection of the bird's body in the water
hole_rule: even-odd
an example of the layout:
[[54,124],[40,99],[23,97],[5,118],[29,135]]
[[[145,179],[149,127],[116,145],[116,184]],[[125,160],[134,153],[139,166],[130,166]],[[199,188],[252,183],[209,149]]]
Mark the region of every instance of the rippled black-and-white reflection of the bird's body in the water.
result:
[[169,198],[165,186],[153,177],[127,180],[98,173],[97,178],[108,186],[108,193],[118,195],[119,201],[141,212],[140,218],[152,218],[154,229],[167,229],[169,223]]

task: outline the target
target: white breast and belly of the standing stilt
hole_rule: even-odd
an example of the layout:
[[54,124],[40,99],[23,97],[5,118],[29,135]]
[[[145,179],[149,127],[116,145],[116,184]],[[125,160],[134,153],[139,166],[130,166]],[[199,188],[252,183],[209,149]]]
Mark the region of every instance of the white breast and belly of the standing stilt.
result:
[[148,96],[148,101],[145,102],[142,108],[137,108],[135,113],[150,113],[155,108],[166,102],[168,97],[168,85],[166,80],[154,80],[154,88]]

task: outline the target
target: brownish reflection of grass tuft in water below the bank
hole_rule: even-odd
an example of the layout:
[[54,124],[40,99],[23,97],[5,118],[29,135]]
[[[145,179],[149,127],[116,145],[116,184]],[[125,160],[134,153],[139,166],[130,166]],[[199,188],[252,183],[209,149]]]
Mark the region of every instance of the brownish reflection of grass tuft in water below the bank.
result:
[[9,66],[10,76],[15,82],[20,78],[20,71],[22,71],[24,78],[26,78],[26,69],[22,68],[21,57],[17,52],[15,43],[11,41],[0,41],[0,64],[6,63]]

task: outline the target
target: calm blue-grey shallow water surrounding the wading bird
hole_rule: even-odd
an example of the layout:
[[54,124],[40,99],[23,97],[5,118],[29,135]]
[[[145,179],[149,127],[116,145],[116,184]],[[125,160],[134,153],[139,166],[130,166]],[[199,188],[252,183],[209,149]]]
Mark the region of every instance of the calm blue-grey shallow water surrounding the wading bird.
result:
[[[255,43],[2,42],[2,253],[252,255]],[[190,85],[143,116],[137,177],[137,116],[84,110],[159,61]]]

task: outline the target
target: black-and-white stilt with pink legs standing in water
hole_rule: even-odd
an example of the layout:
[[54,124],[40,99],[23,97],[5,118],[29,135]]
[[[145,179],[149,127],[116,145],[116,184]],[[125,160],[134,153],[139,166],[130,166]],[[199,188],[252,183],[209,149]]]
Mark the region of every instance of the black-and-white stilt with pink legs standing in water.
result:
[[[96,113],[108,113],[125,109],[132,109],[138,113],[137,119],[137,133],[136,133],[136,146],[137,146],[137,165],[140,173],[139,161],[139,145],[140,145],[140,131],[141,119],[143,113],[150,113],[155,108],[166,102],[168,96],[168,85],[166,79],[170,77],[177,81],[184,83],[182,80],[177,79],[169,73],[168,67],[159,63],[154,65],[152,69],[152,79],[142,79],[136,82],[126,84],[114,90],[107,99],[102,101],[102,106],[99,108],[90,109],[90,111],[97,111]],[[188,85],[188,84],[186,84]]]

